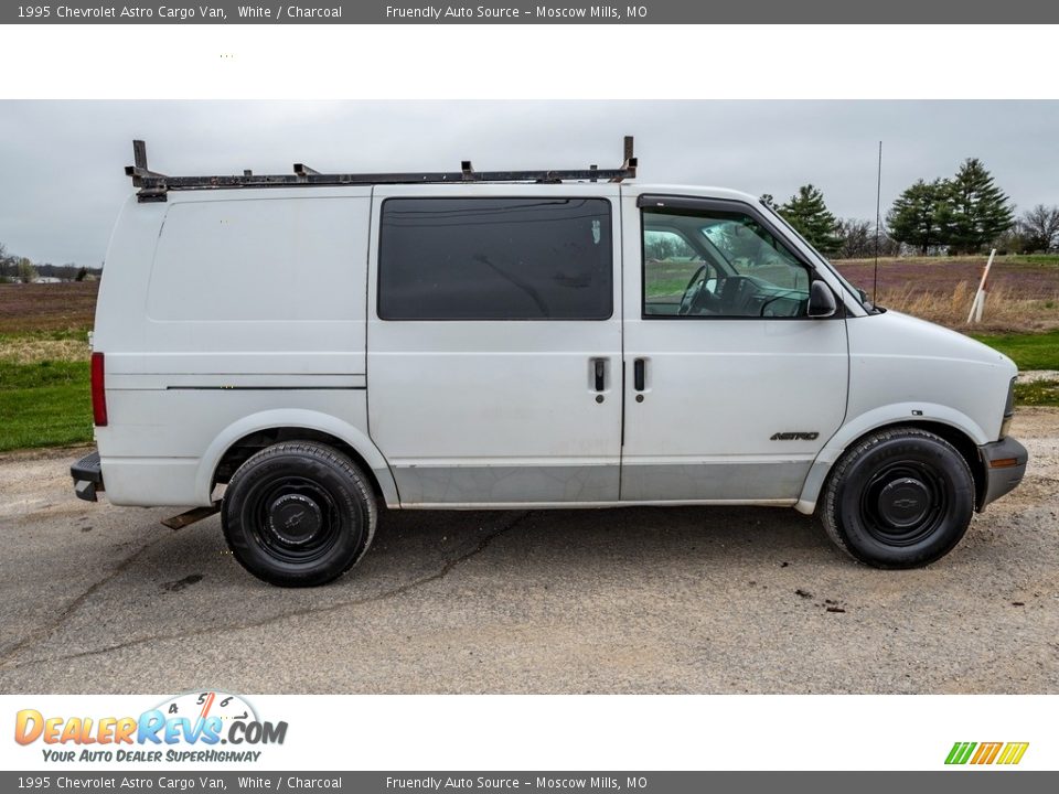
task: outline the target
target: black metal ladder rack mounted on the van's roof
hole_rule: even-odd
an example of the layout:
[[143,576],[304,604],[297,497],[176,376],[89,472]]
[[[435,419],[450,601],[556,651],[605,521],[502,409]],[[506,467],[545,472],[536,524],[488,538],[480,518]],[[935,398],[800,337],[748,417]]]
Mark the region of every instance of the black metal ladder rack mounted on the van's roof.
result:
[[132,141],[133,165],[126,165],[125,173],[139,187],[139,201],[165,201],[171,190],[210,190],[218,187],[292,187],[299,185],[367,185],[367,184],[442,184],[467,182],[539,182],[564,181],[621,182],[637,175],[637,158],[632,154],[632,136],[625,136],[624,161],[621,168],[600,169],[589,165],[574,171],[475,171],[470,160],[461,163],[459,171],[432,171],[421,173],[320,173],[304,163],[295,163],[292,174],[255,174],[244,171],[231,176],[169,176],[147,167],[147,144]]

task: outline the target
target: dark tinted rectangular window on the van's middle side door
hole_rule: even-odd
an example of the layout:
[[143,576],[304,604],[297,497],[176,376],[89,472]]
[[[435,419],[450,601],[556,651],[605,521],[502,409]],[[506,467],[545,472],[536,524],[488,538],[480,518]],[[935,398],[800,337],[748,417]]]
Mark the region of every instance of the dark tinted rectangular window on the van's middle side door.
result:
[[388,198],[378,249],[384,320],[606,320],[603,198]]

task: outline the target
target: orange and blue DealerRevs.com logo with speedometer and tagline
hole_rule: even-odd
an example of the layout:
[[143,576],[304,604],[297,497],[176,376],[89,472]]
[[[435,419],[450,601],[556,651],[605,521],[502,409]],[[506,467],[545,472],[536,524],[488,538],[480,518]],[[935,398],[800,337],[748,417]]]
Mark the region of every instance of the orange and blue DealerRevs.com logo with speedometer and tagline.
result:
[[246,699],[222,691],[178,695],[139,717],[56,717],[36,709],[15,715],[14,740],[40,742],[54,762],[256,762],[282,744],[287,722],[261,720]]

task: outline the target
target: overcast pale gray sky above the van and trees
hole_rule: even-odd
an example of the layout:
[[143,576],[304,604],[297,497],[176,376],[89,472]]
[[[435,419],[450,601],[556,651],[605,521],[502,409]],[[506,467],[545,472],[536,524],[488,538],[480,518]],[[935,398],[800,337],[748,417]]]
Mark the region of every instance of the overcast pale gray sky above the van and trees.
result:
[[783,200],[806,182],[874,218],[916,179],[981,158],[1020,207],[1059,204],[1059,101],[0,101],[0,243],[97,266],[132,138],[172,174],[601,168],[637,137],[642,182]]

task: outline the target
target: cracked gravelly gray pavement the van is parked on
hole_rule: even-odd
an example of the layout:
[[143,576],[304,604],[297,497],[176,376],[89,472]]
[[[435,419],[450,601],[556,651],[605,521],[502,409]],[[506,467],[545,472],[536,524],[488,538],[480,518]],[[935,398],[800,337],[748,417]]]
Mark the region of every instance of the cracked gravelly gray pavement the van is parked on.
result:
[[854,565],[769,508],[391,512],[282,590],[216,517],[74,498],[79,450],[0,459],[0,691],[1057,693],[1059,409],[946,558]]

